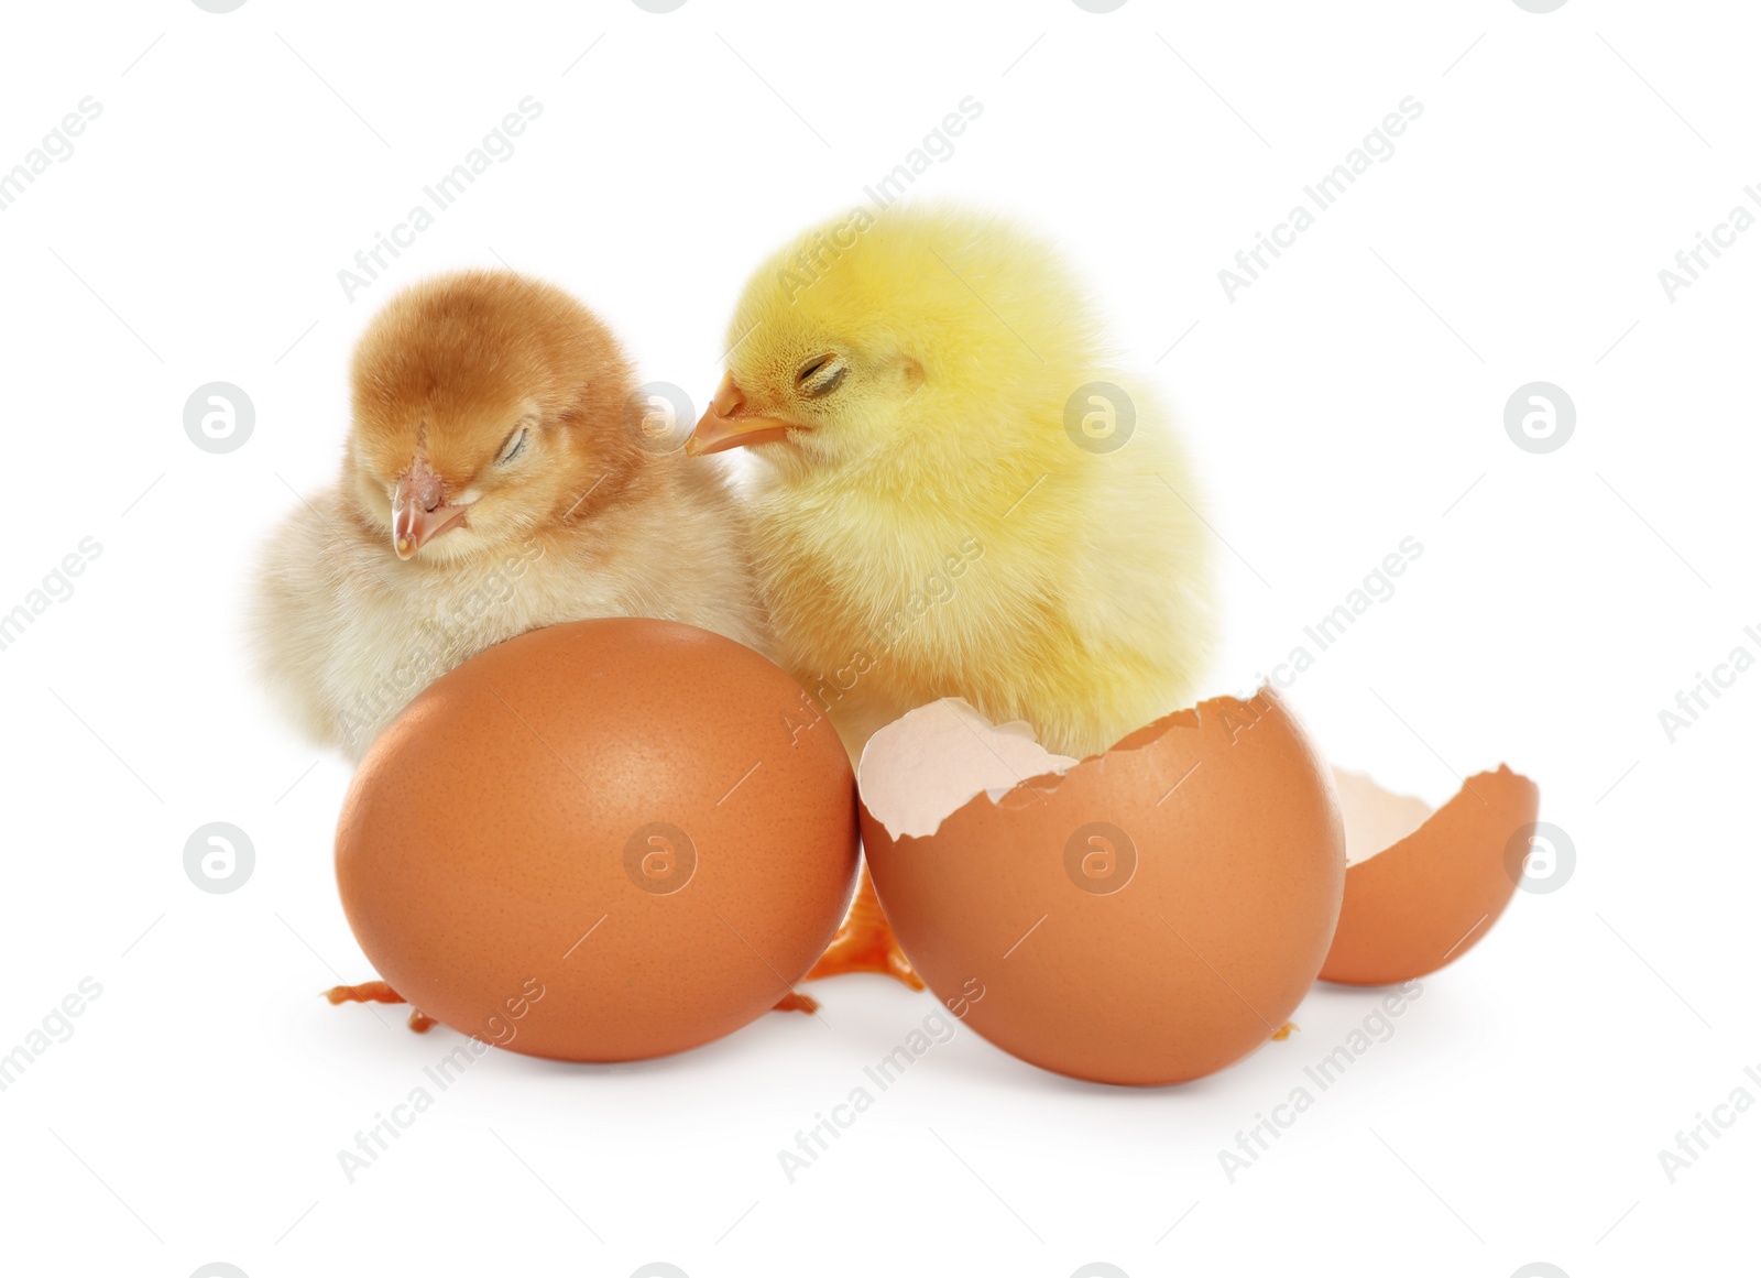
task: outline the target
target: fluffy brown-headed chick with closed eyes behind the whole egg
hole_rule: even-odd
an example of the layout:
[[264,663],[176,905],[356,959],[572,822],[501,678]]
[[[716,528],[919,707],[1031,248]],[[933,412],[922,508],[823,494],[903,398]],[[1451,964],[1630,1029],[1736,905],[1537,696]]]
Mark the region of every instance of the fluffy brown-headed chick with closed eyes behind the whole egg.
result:
[[630,366],[564,290],[419,283],[368,326],[352,382],[342,477],[259,576],[259,664],[306,736],[359,759],[435,678],[558,621],[667,618],[770,653],[726,475],[627,426]]

